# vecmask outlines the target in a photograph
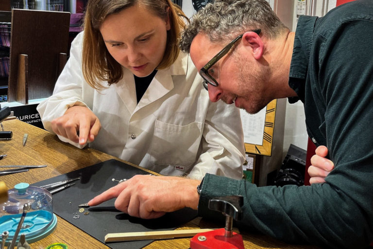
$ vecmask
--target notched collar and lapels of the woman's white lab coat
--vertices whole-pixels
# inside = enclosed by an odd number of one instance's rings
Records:
[[[134,74],[128,69],[123,69],[123,78],[114,85],[120,99],[127,107],[128,111],[134,114],[156,100],[165,96],[174,88],[173,75],[186,75],[188,67],[188,55],[180,53],[176,61],[165,70],[158,70],[148,89],[145,91],[140,102],[136,101],[136,86]],[[177,82],[176,82],[177,83]]]

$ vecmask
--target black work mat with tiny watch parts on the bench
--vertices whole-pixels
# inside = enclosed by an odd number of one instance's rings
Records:
[[[139,249],[154,240],[105,243],[105,235],[115,232],[173,230],[196,217],[197,211],[185,208],[167,213],[157,219],[145,220],[131,217],[115,209],[115,199],[108,200],[96,207],[85,208],[83,213],[79,212],[78,205],[88,202],[103,191],[115,186],[118,182],[113,182],[112,178],[128,179],[135,175],[147,174],[149,173],[121,161],[107,160],[32,185],[42,186],[81,177],[80,180],[75,181],[75,185],[53,194],[53,212],[112,249]],[[85,212],[89,213],[85,214]],[[75,214],[80,215],[80,218],[74,219]]]

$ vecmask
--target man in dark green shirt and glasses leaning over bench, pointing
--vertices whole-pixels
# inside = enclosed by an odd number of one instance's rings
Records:
[[[324,184],[281,188],[209,174],[201,183],[136,176],[89,204],[118,197],[116,207],[138,217],[197,206],[199,215],[211,216],[209,199],[242,195],[241,225],[292,243],[365,248],[373,240],[372,35],[371,0],[347,3],[323,18],[300,17],[295,33],[265,0],[206,5],[187,25],[181,47],[201,69],[210,100],[250,113],[272,99],[301,100],[308,134],[327,146],[334,170]]]

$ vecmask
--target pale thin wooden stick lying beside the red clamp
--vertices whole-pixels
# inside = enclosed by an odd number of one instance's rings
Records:
[[[213,230],[215,229],[185,229],[185,230],[171,230],[171,231],[142,231],[142,232],[140,231],[140,232],[108,233],[105,236],[105,242],[193,237],[197,233],[213,231]]]

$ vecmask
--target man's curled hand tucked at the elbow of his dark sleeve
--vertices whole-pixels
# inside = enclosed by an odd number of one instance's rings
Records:
[[[316,155],[311,158],[311,166],[308,167],[310,184],[325,182],[324,178],[334,169],[334,163],[325,158],[328,155],[328,148],[319,146],[315,152]]]

